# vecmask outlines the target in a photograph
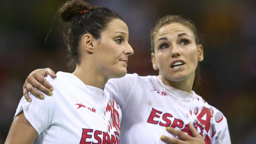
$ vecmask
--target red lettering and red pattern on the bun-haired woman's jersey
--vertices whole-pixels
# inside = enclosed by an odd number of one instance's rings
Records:
[[[105,131],[83,128],[80,144],[119,144],[120,115],[117,109],[120,106],[110,98],[103,114]]]

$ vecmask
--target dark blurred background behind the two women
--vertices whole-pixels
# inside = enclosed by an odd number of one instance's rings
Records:
[[[0,143],[6,139],[31,71],[69,71],[66,47],[54,27],[65,0],[0,0]],[[88,0],[119,13],[129,26],[134,55],[128,72],[157,75],[150,52],[150,29],[166,14],[193,20],[204,35],[200,95],[227,117],[232,144],[256,144],[255,0]]]

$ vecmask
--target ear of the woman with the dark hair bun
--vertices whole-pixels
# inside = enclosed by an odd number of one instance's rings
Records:
[[[96,42],[96,40],[89,33],[84,34],[82,37],[83,48],[84,48],[84,50],[86,50],[89,53],[94,52],[94,48],[95,48],[95,44],[96,44],[95,42]]]

